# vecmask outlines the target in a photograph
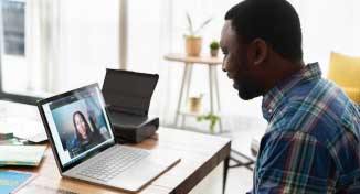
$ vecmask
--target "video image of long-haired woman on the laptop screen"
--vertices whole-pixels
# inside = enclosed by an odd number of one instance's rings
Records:
[[[74,101],[68,104],[68,100]],[[57,128],[62,149],[68,153],[71,159],[110,138],[97,98],[88,94],[86,98],[77,99],[72,96],[65,101],[66,105],[53,104],[50,109]]]

